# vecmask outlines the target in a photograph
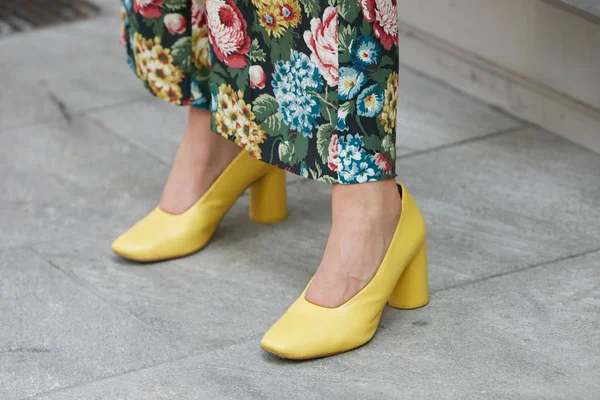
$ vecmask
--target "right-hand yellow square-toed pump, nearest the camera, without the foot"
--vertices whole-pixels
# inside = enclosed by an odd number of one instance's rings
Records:
[[[262,338],[265,351],[298,360],[342,353],[371,340],[386,302],[402,309],[428,303],[425,221],[408,191],[400,184],[398,189],[400,220],[371,282],[336,308],[308,302],[304,289]]]

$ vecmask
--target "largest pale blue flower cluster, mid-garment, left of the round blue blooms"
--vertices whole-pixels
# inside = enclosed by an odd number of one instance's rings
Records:
[[[306,54],[294,50],[289,61],[275,63],[272,85],[283,122],[292,130],[312,138],[321,112],[316,93],[323,88],[317,66]]]

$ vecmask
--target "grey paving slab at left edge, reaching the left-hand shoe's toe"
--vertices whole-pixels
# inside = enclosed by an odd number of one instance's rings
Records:
[[[151,210],[168,166],[85,118],[0,132],[0,247],[85,237]]]

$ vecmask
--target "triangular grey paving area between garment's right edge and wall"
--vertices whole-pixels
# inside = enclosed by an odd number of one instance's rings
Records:
[[[523,124],[410,69],[400,68],[398,155],[471,140]]]

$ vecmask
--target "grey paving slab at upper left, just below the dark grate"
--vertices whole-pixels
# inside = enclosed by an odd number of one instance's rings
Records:
[[[0,40],[0,131],[144,96],[119,24],[109,15]]]

